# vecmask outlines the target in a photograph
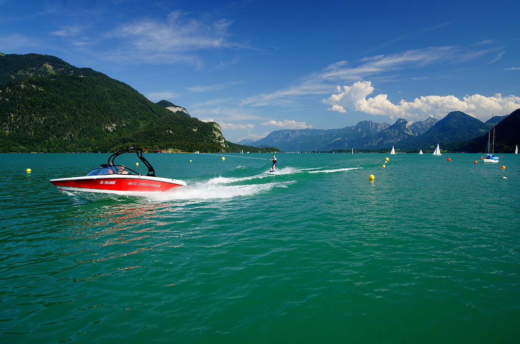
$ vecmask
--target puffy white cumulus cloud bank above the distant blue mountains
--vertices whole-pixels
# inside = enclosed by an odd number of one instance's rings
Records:
[[[373,115],[386,115],[392,119],[422,120],[433,115],[443,118],[450,111],[463,111],[480,120],[488,120],[490,113],[509,114],[520,108],[520,97],[496,94],[486,97],[479,94],[465,96],[421,96],[413,101],[401,99],[393,104],[386,94],[368,97],[374,92],[370,81],[358,81],[351,86],[337,86],[336,93],[323,99],[322,103],[329,105],[328,110],[347,112],[346,109],[362,111]]]

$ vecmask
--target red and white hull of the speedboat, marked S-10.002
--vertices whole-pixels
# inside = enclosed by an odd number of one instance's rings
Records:
[[[140,195],[161,193],[177,186],[185,186],[183,181],[142,175],[94,175],[72,178],[51,179],[50,183],[71,193],[100,193],[112,195]]]

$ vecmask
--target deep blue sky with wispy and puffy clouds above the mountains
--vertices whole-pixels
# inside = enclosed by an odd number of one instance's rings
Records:
[[[0,52],[57,56],[222,126],[393,124],[520,108],[511,1],[0,0]]]

